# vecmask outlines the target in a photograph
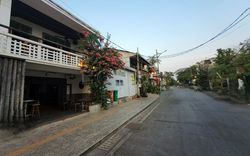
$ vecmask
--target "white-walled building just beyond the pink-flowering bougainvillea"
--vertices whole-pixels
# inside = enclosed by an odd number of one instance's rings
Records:
[[[140,96],[142,77],[149,77],[149,62],[134,52],[119,50],[119,53],[122,54],[125,67],[122,70],[115,71],[113,78],[108,80],[108,90],[115,91],[114,94],[118,93],[119,100]]]

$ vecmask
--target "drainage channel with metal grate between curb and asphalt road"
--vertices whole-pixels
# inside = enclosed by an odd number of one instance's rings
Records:
[[[147,107],[140,114],[135,116],[125,125],[120,127],[116,132],[110,135],[106,140],[104,140],[100,145],[94,148],[92,151],[89,151],[86,156],[104,156],[104,155],[113,155],[114,152],[124,143],[129,137],[143,129],[143,121],[148,118],[148,116],[154,111],[155,108],[160,104],[159,99],[156,100],[153,104]]]

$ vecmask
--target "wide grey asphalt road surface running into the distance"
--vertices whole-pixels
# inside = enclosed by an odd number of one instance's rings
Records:
[[[250,106],[173,88],[114,155],[249,156]]]

